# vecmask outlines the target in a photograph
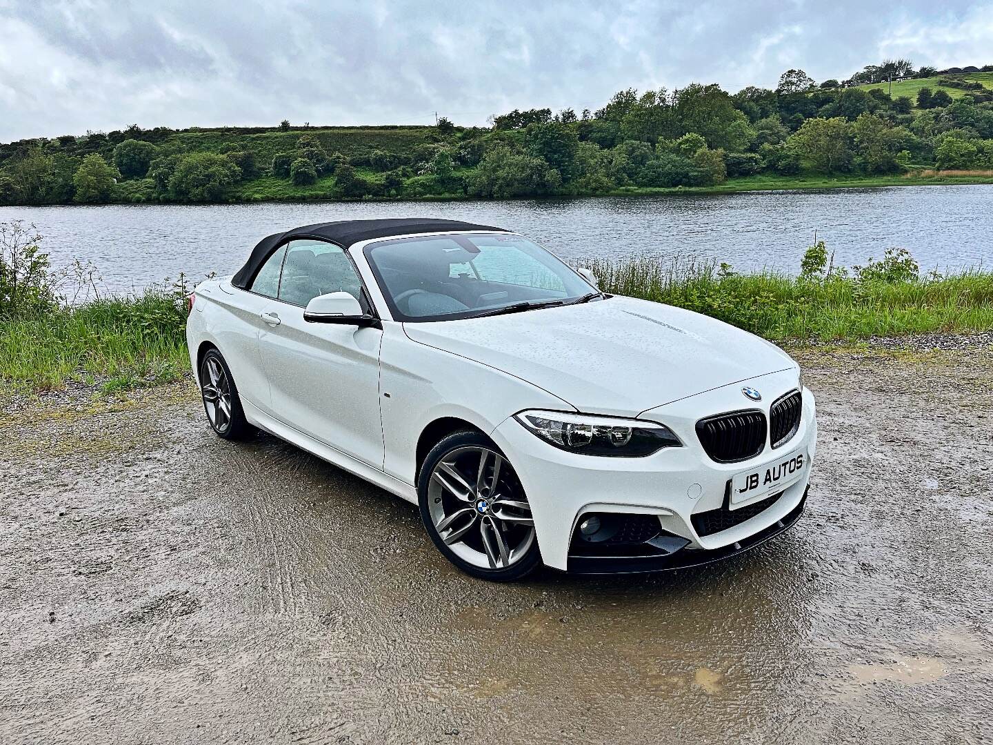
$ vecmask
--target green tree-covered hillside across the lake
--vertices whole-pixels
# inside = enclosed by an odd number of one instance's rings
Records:
[[[939,77],[941,87],[922,87],[913,100],[851,86],[931,73],[896,61],[869,66],[847,85],[818,85],[790,70],[776,89],[734,94],[700,83],[628,88],[596,111],[515,109],[489,127],[443,117],[397,151],[366,147],[360,135],[333,149],[324,130],[307,125],[296,134],[285,120],[269,131],[295,140],[264,159],[249,137],[199,149],[172,130],[137,126],[28,140],[0,146],[0,204],[221,202],[235,193],[264,197],[283,182],[292,189],[281,193],[318,198],[596,195],[759,174],[993,168],[993,91],[981,83]],[[946,87],[962,94],[953,99]]]

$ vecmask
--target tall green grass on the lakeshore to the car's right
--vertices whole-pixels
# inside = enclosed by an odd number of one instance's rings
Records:
[[[772,340],[856,340],[993,329],[993,273],[902,281],[763,272],[713,262],[597,260],[601,288],[704,313]]]

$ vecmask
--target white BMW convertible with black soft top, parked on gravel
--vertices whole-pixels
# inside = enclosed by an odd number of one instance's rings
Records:
[[[196,287],[187,340],[219,437],[264,430],[416,504],[476,577],[704,564],[806,503],[815,403],[785,353],[499,227],[269,235]]]

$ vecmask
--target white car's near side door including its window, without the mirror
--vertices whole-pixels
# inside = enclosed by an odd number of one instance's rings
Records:
[[[279,292],[261,318],[259,353],[274,416],[327,445],[382,468],[379,346],[382,332],[304,321],[318,295],[349,292],[369,312],[348,253],[322,240],[292,240]]]

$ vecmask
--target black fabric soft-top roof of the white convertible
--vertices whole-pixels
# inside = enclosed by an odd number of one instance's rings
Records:
[[[294,227],[286,232],[277,232],[262,238],[252,248],[245,265],[231,277],[231,284],[245,289],[256,272],[280,245],[292,238],[323,238],[337,243],[343,248],[372,238],[386,238],[391,235],[409,235],[419,232],[455,232],[459,230],[495,230],[506,232],[502,227],[462,223],[457,220],[437,220],[434,218],[390,218],[387,220],[343,220],[337,223],[318,223]]]

